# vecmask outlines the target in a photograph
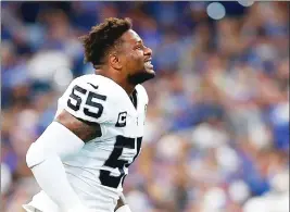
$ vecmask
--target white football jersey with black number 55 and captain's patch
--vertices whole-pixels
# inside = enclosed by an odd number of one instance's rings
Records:
[[[112,79],[91,74],[75,78],[58,101],[55,116],[66,110],[88,124],[101,126],[100,137],[62,160],[67,179],[83,203],[100,212],[114,211],[128,166],[141,150],[148,96],[137,85],[133,97],[134,101]],[[37,207],[50,202],[50,211],[54,212],[52,207],[58,211],[43,191],[33,202],[30,205]]]

